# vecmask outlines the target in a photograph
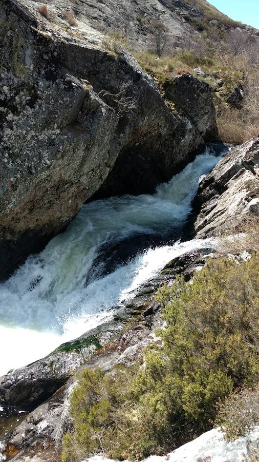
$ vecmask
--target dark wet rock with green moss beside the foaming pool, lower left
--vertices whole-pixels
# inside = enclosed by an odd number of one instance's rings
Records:
[[[0,403],[30,410],[56,392],[95,351],[103,347],[126,322],[101,324],[79,338],[63,343],[43,359],[0,378]]]

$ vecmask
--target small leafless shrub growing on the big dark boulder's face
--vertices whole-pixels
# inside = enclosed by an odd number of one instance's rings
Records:
[[[134,97],[126,96],[127,88],[130,82],[122,83],[119,86],[118,93],[111,93],[110,91],[101,90],[98,96],[101,97],[109,106],[116,107],[117,115],[120,117],[125,114],[133,114],[134,109],[137,108],[137,100]]]

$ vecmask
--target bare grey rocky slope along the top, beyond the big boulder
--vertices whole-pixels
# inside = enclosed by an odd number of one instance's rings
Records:
[[[35,10],[40,2],[24,0],[23,4]],[[189,27],[198,33],[207,31],[215,37],[226,37],[230,28],[241,27],[252,35],[259,34],[252,27],[231,20],[206,0],[130,0],[113,2],[77,2],[76,0],[48,0],[52,22],[67,27],[64,10],[69,10],[77,21],[77,34],[95,42],[101,34],[117,31],[128,38],[130,47],[136,50],[152,46],[152,23],[162,21],[169,29],[168,47],[188,33]]]

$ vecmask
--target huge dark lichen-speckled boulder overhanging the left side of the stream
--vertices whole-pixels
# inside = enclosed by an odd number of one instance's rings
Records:
[[[150,192],[215,135],[206,84],[187,82],[197,89],[191,104],[202,97],[209,107],[203,124],[196,113],[191,120],[191,108],[172,114],[131,55],[105,52],[101,33],[88,39],[37,6],[0,5],[1,277],[61,232],[114,165],[102,195]],[[177,83],[184,93],[185,80]],[[121,110],[113,96],[122,84],[133,110]]]

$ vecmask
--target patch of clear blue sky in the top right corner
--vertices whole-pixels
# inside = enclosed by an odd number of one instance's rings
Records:
[[[259,0],[208,0],[222,13],[259,29]]]

